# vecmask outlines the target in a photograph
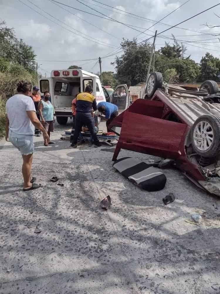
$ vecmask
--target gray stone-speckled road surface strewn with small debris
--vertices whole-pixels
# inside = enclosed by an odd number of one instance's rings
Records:
[[[35,191],[22,192],[21,156],[1,141],[0,293],[220,293],[219,198],[173,169],[162,191],[142,191],[114,171],[113,153],[72,149],[63,129],[56,125],[53,146],[35,138]],[[176,200],[164,206],[170,192]],[[106,195],[112,206],[103,211]],[[193,213],[201,223],[187,222]]]

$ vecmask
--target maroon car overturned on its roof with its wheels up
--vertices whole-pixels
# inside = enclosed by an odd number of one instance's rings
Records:
[[[218,84],[206,81],[200,91],[189,91],[162,83],[159,74],[150,75],[145,99],[111,122],[111,130],[120,134],[113,161],[121,148],[169,158],[197,186],[220,196]]]

